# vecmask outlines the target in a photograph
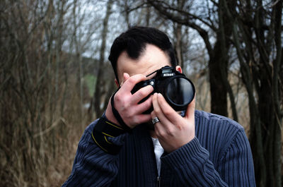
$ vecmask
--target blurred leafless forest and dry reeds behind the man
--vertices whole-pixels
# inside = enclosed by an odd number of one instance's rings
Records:
[[[282,1],[2,0],[0,19],[0,186],[64,183],[131,25],[170,36],[197,109],[241,123],[257,186],[282,186]]]

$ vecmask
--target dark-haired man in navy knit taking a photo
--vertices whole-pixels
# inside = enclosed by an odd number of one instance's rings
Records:
[[[130,28],[116,38],[109,59],[120,89],[83,133],[63,186],[255,186],[250,145],[238,123],[195,110],[195,99],[183,114],[160,93],[141,102],[151,85],[132,94],[163,66],[182,73],[163,32]]]

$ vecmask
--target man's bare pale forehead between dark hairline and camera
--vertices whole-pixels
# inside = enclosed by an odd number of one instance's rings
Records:
[[[122,52],[117,59],[117,73],[122,83],[123,73],[149,75],[163,66],[171,66],[168,54],[152,44],[146,44],[144,52],[138,59],[131,59],[127,52]]]

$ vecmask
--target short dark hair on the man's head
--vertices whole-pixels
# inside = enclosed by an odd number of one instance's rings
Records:
[[[146,44],[154,44],[163,52],[166,52],[170,58],[171,66],[175,68],[176,61],[174,49],[168,36],[156,28],[134,26],[117,37],[110,49],[108,59],[112,64],[118,83],[117,59],[120,54],[122,52],[127,52],[131,59],[138,59],[141,53],[144,52]]]

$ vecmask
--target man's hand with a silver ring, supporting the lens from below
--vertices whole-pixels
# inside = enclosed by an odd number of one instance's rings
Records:
[[[184,117],[160,93],[154,93],[152,104],[154,111],[151,112],[151,118],[157,116],[160,121],[155,123],[154,131],[166,152],[173,152],[195,138],[195,98],[187,106]]]

